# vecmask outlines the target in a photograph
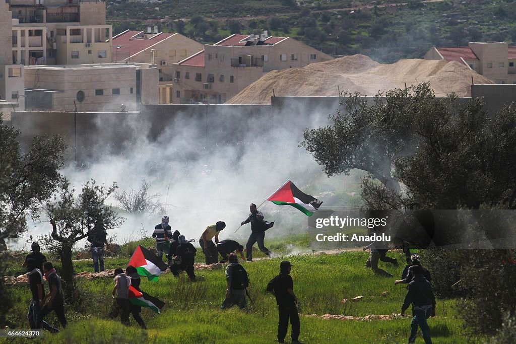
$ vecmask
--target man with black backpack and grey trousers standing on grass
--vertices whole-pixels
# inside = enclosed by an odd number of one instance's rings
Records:
[[[246,269],[238,264],[238,257],[233,252],[229,255],[229,265],[226,267],[226,296],[220,308],[231,308],[238,305],[240,309],[247,306],[246,288],[249,286],[249,277]]]

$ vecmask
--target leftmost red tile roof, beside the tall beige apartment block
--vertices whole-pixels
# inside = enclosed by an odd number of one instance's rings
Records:
[[[142,50],[147,49],[148,47],[159,43],[170,36],[175,34],[164,34],[163,32],[157,35],[154,35],[150,39],[143,38],[134,38],[136,35],[140,34],[143,31],[132,31],[126,30],[121,34],[113,37],[113,47],[112,47],[112,56],[114,59],[118,56],[122,56],[119,59],[127,59],[129,56],[135,55]],[[120,52],[117,54],[117,52]]]

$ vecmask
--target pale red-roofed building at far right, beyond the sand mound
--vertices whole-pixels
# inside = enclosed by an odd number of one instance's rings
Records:
[[[468,46],[432,47],[424,58],[460,61],[497,84],[516,84],[516,45],[470,42]]]

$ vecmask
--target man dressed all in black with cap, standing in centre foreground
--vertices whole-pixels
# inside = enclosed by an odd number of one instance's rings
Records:
[[[276,297],[278,303],[278,342],[284,343],[287,335],[288,319],[292,325],[292,343],[299,344],[299,314],[297,311],[297,297],[294,294],[294,282],[290,276],[292,265],[289,261],[280,263],[280,274],[267,284],[267,291]]]

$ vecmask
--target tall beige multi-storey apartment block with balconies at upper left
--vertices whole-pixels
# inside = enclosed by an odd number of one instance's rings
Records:
[[[8,0],[12,63],[111,62],[112,27],[96,0]]]

